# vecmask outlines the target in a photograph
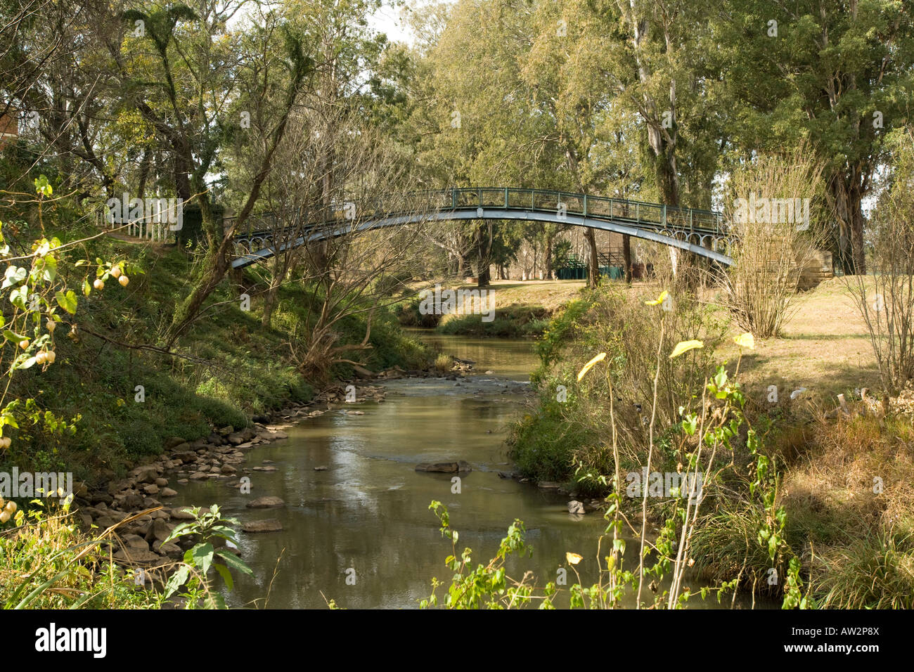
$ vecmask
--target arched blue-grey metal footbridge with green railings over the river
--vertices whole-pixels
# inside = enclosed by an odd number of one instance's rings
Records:
[[[283,229],[274,215],[249,219],[235,236],[232,268],[263,261],[277,251],[364,231],[428,221],[515,219],[571,224],[652,240],[730,265],[736,243],[719,212],[676,208],[623,198],[514,187],[470,187],[416,192],[370,203],[346,203],[315,221]],[[307,218],[306,218],[307,219]]]

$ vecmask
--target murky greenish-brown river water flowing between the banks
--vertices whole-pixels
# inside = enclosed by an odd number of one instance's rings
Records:
[[[515,518],[526,525],[532,557],[508,563],[508,576],[533,571],[537,584],[556,581],[568,566],[567,551],[584,556],[577,566],[590,585],[597,578],[599,513],[572,517],[568,496],[501,478],[512,470],[505,453],[506,425],[526,404],[527,376],[536,366],[527,340],[421,336],[442,351],[476,362],[473,374],[448,379],[400,379],[385,383],[381,403],[345,404],[287,430],[289,439],[248,453],[251,468],[264,460],[274,472],[251,472],[251,493],[219,481],[191,481],[177,505],[218,503],[240,522],[278,518],[282,531],[239,532],[239,547],[253,577],[236,575],[226,592],[230,606],[415,608],[437,577],[450,583],[444,559],[451,542],[441,538],[431,500],[445,504],[460,533],[458,555],[473,549],[473,565],[494,556]],[[492,374],[485,374],[492,370]],[[342,411],[363,411],[351,415]],[[417,473],[420,462],[465,460],[461,475]],[[269,463],[268,463],[269,464]],[[314,467],[325,466],[324,471]],[[250,509],[258,496],[279,496],[286,506]],[[611,542],[610,542],[611,544]],[[636,546],[627,555],[636,557]],[[603,541],[603,555],[607,541]],[[569,584],[577,578],[569,572]],[[443,596],[446,587],[439,588]]]

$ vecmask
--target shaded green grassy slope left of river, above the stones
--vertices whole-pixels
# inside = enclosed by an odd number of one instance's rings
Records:
[[[80,240],[96,233],[74,222],[68,236]],[[80,296],[73,324],[58,327],[56,364],[16,374],[16,395],[37,400],[36,422],[12,432],[0,468],[72,471],[77,480],[94,482],[121,474],[143,455],[160,453],[171,437],[193,440],[213,428],[239,429],[252,415],[310,400],[328,382],[305,378],[290,357],[290,346],[301,338],[314,309],[314,294],[300,284],[282,287],[271,326],[264,327],[256,291],[249,290],[250,310],[242,310],[239,300],[239,285],[258,286],[257,268],[236,278],[238,284],[227,278],[174,354],[165,354],[159,335],[195,270],[186,253],[106,236],[87,241],[74,256],[127,261],[133,269],[130,283],[122,287],[111,279],[103,290]],[[77,290],[81,271],[69,271],[68,284]],[[339,343],[362,340],[364,315],[336,325]],[[374,315],[370,345],[359,353],[367,368],[427,363],[425,348],[405,336],[383,309]],[[347,378],[352,367],[340,364],[331,373]],[[45,410],[73,419],[74,429],[60,432],[43,422]]]

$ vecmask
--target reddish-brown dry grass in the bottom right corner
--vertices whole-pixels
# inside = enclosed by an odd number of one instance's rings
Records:
[[[820,419],[781,503],[824,608],[910,608],[914,599],[914,426],[874,415]]]

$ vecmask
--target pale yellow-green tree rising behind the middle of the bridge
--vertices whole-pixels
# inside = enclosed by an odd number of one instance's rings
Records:
[[[429,37],[412,119],[418,162],[439,185],[572,187],[554,116],[537,100],[539,82],[524,72],[537,11],[516,0],[466,1],[452,6],[446,22],[440,11],[427,16],[432,27],[420,31]],[[519,240],[524,232],[515,229],[525,226],[500,223],[490,235],[488,225],[473,225],[481,283],[489,262],[508,261],[492,256],[504,248],[492,236]],[[551,240],[559,227],[550,229]]]

